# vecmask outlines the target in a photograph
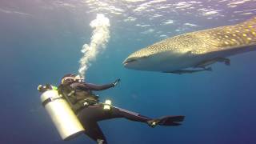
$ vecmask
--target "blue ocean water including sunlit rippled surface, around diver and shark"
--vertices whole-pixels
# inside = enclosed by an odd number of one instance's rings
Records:
[[[182,126],[154,129],[139,122],[100,122],[109,143],[254,144],[256,52],[214,64],[213,72],[162,74],[127,70],[135,50],[194,30],[256,16],[256,1],[9,1],[0,2],[0,143],[94,143],[82,135],[62,142],[41,105],[39,84],[58,85],[77,73],[82,45],[90,43],[96,14],[110,19],[110,41],[86,71],[86,81],[114,82],[101,100],[157,118],[185,115]]]

